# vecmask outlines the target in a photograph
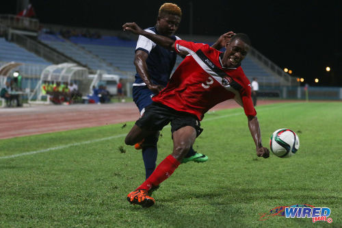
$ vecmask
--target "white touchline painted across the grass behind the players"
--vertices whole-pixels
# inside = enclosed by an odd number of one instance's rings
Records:
[[[287,103],[287,104],[276,106],[276,107],[265,107],[265,108],[259,109],[258,112],[265,111],[265,110],[272,110],[274,108],[280,108],[280,107],[284,107],[284,106],[288,106],[288,105],[294,105],[294,104],[299,104],[299,103]],[[218,118],[226,118],[226,117],[230,117],[230,116],[239,116],[239,115],[242,115],[242,114],[244,114],[244,112],[239,112],[239,113],[234,113],[234,114],[227,114],[227,115],[224,115],[224,116],[215,116],[215,117],[211,117],[211,118],[209,117],[209,118],[205,118],[203,121],[213,121],[213,120],[216,120]],[[166,127],[170,127],[170,125],[168,125]],[[164,127],[164,128],[166,128],[166,127]],[[45,153],[45,152],[49,152],[49,151],[65,149],[65,148],[68,148],[68,147],[76,147],[76,146],[83,145],[83,144],[90,144],[90,143],[93,143],[93,142],[101,142],[101,141],[105,141],[105,140],[111,140],[113,138],[121,138],[121,137],[124,137],[124,136],[127,136],[127,134],[120,134],[120,135],[117,135],[117,136],[110,136],[110,137],[106,137],[106,138],[98,138],[98,139],[88,140],[88,141],[83,141],[83,142],[75,142],[75,143],[70,143],[70,144],[66,144],[66,145],[63,145],[63,146],[59,146],[59,147],[50,147],[50,148],[47,148],[47,149],[41,149],[41,150],[38,150],[38,151],[29,151],[29,152],[25,152],[25,153],[17,153],[17,154],[14,154],[14,155],[8,155],[8,156],[0,157],[0,160],[1,159],[13,158],[13,157],[21,157],[21,156],[25,156],[25,155],[33,155],[33,154],[36,154],[36,153]]]

